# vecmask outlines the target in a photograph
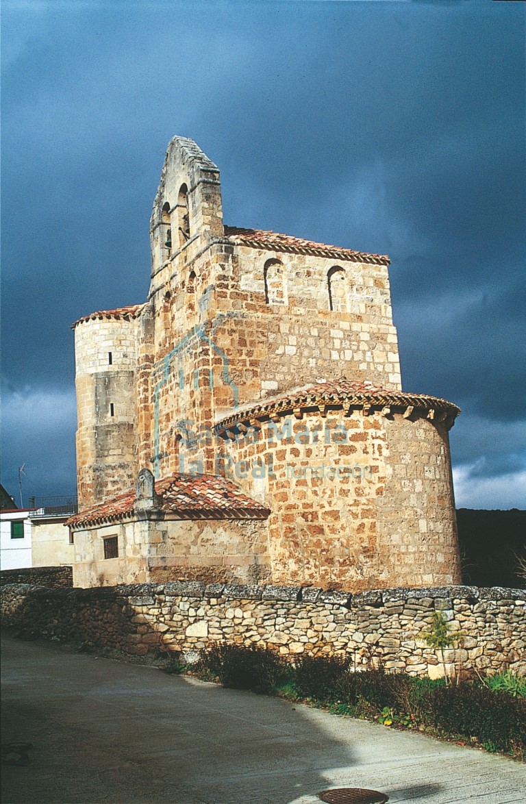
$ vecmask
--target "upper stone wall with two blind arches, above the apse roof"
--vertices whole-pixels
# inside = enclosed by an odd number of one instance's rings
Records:
[[[281,268],[281,301],[265,293],[269,261]],[[335,268],[346,277],[347,306],[331,310],[327,276]],[[240,388],[253,386],[246,401],[341,375],[401,388],[386,265],[335,265],[329,258],[236,246],[224,273],[218,266],[216,297],[218,310],[245,312],[235,326],[218,330],[217,343],[228,351]],[[262,349],[255,355],[259,388],[246,363],[251,342],[256,352]]]

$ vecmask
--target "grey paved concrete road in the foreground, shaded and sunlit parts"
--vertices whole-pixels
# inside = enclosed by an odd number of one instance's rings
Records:
[[[310,804],[328,787],[390,802],[526,801],[526,769],[379,724],[339,718],[55,644],[2,641],[4,804]]]

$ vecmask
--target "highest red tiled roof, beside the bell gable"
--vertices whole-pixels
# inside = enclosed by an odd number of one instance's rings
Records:
[[[314,256],[330,257],[334,260],[351,260],[351,262],[371,262],[378,265],[389,265],[389,258],[385,255],[356,252],[351,248],[340,248],[339,246],[330,246],[324,243],[314,243],[313,240],[303,240],[302,237],[281,235],[279,232],[265,232],[261,229],[240,229],[235,226],[225,226],[224,235],[236,245],[262,248],[265,251],[312,254]]]

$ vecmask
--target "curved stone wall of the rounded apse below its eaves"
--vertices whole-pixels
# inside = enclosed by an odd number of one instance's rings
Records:
[[[461,580],[444,425],[310,412],[223,444],[224,473],[272,511],[273,583],[361,592]]]

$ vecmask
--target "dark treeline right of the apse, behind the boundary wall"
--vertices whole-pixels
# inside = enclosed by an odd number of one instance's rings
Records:
[[[526,511],[458,508],[457,522],[464,583],[526,587]]]

